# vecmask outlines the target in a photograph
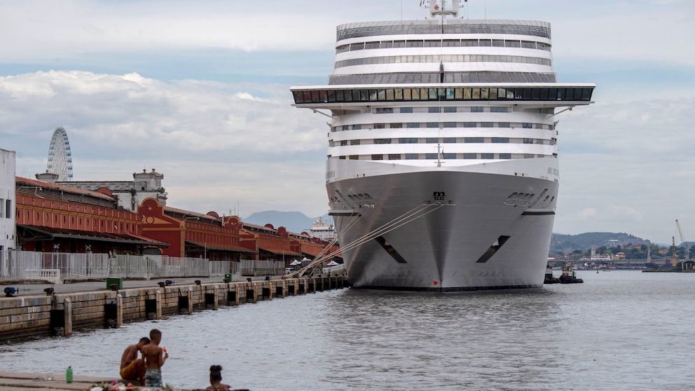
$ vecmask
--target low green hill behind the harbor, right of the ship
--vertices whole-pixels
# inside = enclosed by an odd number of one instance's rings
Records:
[[[621,247],[626,245],[651,245],[652,242],[629,233],[613,233],[613,232],[587,232],[579,235],[563,235],[561,233],[553,233],[550,240],[550,254],[558,252],[570,253],[575,249],[589,250],[594,245],[597,248],[601,246],[614,247],[615,242]]]

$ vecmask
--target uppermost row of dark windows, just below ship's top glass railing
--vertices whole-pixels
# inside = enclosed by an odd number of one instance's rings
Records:
[[[363,49],[389,48],[460,48],[469,46],[491,46],[497,48],[526,48],[550,50],[549,43],[521,41],[518,39],[408,39],[401,41],[373,41],[349,43],[336,48],[336,53]]]

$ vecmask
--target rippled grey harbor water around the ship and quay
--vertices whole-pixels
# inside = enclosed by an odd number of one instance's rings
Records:
[[[336,289],[0,345],[5,371],[118,376],[163,331],[163,379],[261,390],[688,390],[695,273],[448,294]]]

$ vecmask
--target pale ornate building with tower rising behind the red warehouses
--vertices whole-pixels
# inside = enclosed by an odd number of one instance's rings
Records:
[[[142,170],[142,172],[134,172],[132,181],[58,181],[54,174],[46,172],[44,174],[36,174],[36,179],[47,181],[49,183],[64,184],[83,190],[97,191],[99,188],[108,188],[113,196],[118,199],[118,207],[130,212],[137,211],[138,205],[146,198],[154,198],[160,205],[167,205],[167,192],[162,187],[162,179],[164,174],[156,172],[152,169],[151,172]]]

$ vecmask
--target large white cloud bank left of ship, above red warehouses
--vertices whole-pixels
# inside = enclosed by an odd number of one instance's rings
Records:
[[[20,176],[43,172],[60,125],[75,180],[128,180],[154,167],[179,207],[327,210],[325,121],[291,107],[287,86],[35,72],[0,77],[0,118]]]

